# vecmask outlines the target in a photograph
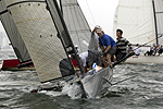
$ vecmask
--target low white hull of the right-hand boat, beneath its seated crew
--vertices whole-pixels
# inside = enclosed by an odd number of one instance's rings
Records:
[[[133,56],[128,58],[124,63],[155,63],[163,64],[163,56]]]

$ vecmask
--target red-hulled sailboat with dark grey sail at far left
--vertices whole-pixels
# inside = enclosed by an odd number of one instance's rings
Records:
[[[21,34],[14,24],[10,11],[4,5],[3,1],[0,1],[0,21],[5,29],[5,33],[11,41],[13,50],[17,59],[7,59],[3,60],[2,70],[18,70],[17,65],[23,63],[28,63],[32,61],[28,50],[21,37]],[[30,64],[33,65],[33,64]],[[35,70],[34,65],[32,68],[25,68],[21,70]]]

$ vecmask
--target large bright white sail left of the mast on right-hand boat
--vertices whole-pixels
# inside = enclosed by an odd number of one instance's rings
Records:
[[[152,0],[120,0],[115,28],[124,31],[124,37],[131,44],[155,44],[155,23]]]

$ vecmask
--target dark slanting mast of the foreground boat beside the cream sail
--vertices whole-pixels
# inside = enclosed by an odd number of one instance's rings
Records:
[[[48,0],[46,0],[46,2],[47,2],[48,8],[50,8],[50,7],[49,7],[50,3],[48,3]],[[79,70],[80,70],[80,72],[82,72],[82,75],[84,75],[84,73],[85,73],[85,72],[84,72],[84,69],[83,69],[83,66],[82,66],[82,64],[80,64],[80,62],[79,62],[79,60],[78,60],[78,58],[77,58],[77,53],[76,53],[75,47],[74,47],[74,45],[73,45],[73,41],[72,41],[72,39],[71,39],[71,36],[70,36],[68,31],[67,31],[67,28],[66,28],[65,22],[64,22],[64,20],[63,20],[63,16],[62,16],[62,13],[61,13],[61,10],[60,10],[60,8],[59,8],[59,5],[58,5],[57,0],[53,0],[53,3],[54,3],[54,7],[55,7],[55,9],[57,9],[58,15],[59,15],[59,17],[60,17],[60,20],[61,20],[61,23],[62,23],[63,29],[64,29],[64,32],[65,32],[66,38],[68,39],[68,40],[66,40],[66,41],[70,41],[70,47],[72,48],[72,51],[73,51],[73,53],[75,55],[75,59],[76,59],[76,61],[77,61],[78,68],[79,68]],[[51,7],[52,7],[52,4],[51,4]],[[55,20],[54,20],[53,15],[52,15],[51,10],[49,9],[48,11],[49,11],[50,14],[51,14],[52,21],[53,21],[53,23],[54,23],[54,25],[55,25],[55,28],[57,28],[57,31],[58,31],[59,36],[62,37],[61,34],[60,34],[59,27],[58,27],[58,25],[55,24]],[[63,34],[64,34],[64,33],[63,33]],[[65,40],[64,40],[64,41],[65,41]],[[63,46],[64,46],[64,45],[63,45]],[[65,47],[65,46],[64,46],[64,47]],[[68,48],[68,47],[65,47],[65,49],[64,49],[66,53],[67,53],[67,50],[66,50],[67,48]],[[78,76],[78,74],[77,74],[77,76]]]

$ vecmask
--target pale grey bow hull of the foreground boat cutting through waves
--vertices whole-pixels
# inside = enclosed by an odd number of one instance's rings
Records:
[[[97,74],[87,75],[82,80],[85,92],[90,98],[102,96],[111,86],[113,71],[110,68],[100,70]]]

